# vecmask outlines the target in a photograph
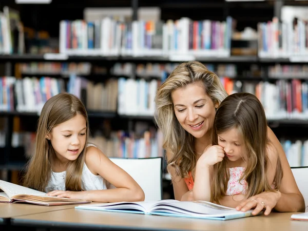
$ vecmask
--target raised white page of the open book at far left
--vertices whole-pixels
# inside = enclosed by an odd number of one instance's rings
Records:
[[[45,196],[45,192],[37,191],[31,188],[27,188],[21,185],[13,184],[0,180],[0,188],[6,193],[9,198],[13,198],[16,195],[36,195],[36,196]]]

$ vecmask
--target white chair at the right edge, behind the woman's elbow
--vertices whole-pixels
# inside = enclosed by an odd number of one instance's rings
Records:
[[[304,197],[306,211],[308,211],[308,166],[307,167],[291,167],[293,176],[297,186]]]

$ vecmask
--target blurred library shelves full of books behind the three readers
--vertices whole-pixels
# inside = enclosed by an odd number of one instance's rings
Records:
[[[6,21],[3,15],[0,24]],[[133,121],[133,129],[115,129],[108,137],[92,133],[90,141],[100,144],[107,156],[164,156],[162,134],[152,129],[156,90],[179,63],[198,60],[217,73],[229,94],[256,94],[271,127],[308,126],[308,65],[303,63],[308,61],[308,45],[303,21],[294,27],[275,17],[259,23],[258,55],[249,56],[231,55],[232,24],[232,17],[225,21],[63,20],[59,52],[44,54],[14,53],[9,29],[4,27],[0,62],[17,64],[19,69],[16,77],[0,77],[0,119],[37,119],[50,97],[67,91],[83,100],[90,124],[105,119]],[[0,160],[0,169],[20,169],[33,152],[35,133],[14,130],[7,135],[7,128],[1,129],[0,150],[5,151],[7,144],[11,148],[9,157]],[[305,139],[300,134],[281,138],[291,166],[308,166]]]

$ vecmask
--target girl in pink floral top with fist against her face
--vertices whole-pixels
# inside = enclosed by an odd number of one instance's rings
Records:
[[[224,99],[216,111],[212,138],[213,145],[197,162],[195,199],[220,203],[227,195],[235,202],[250,198],[255,206],[266,207],[254,196],[278,190],[283,174],[258,98],[234,93]]]

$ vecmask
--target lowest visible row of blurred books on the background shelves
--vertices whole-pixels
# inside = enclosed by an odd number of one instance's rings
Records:
[[[5,147],[5,132],[0,132],[0,147]],[[12,147],[24,147],[25,157],[29,158],[34,151],[35,132],[13,132]],[[161,130],[145,130],[142,132],[111,131],[110,137],[104,137],[100,132],[89,138],[108,157],[148,158],[164,157],[162,148],[163,136]],[[291,167],[308,166],[308,140],[280,140],[286,158]]]

